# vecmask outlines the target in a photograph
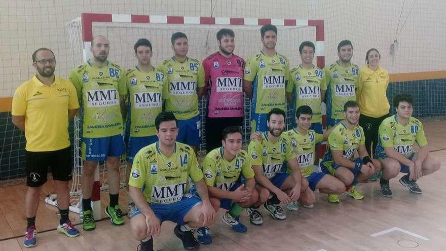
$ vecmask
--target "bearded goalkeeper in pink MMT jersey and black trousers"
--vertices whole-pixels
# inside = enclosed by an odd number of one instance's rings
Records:
[[[234,55],[234,31],[217,32],[220,50],[203,60],[198,70],[200,86],[207,87],[206,152],[220,146],[219,133],[227,126],[241,126],[243,122],[243,69],[245,60]],[[203,84],[204,83],[204,84]]]

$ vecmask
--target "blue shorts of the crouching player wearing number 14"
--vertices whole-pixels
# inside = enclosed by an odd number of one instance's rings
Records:
[[[180,201],[170,204],[148,203],[155,216],[160,222],[171,221],[179,225],[184,225],[184,217],[194,207],[201,204],[200,198],[193,196],[191,198],[183,196]],[[140,214],[139,208],[136,208],[130,219]]]

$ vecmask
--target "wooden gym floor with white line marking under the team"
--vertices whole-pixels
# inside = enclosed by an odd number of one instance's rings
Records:
[[[430,145],[430,154],[446,162],[446,121],[425,120],[424,127]],[[220,221],[222,210],[210,228],[211,245],[201,250],[444,250],[446,249],[446,195],[442,190],[446,180],[445,164],[433,175],[423,177],[419,186],[422,195],[411,194],[401,186],[398,178],[391,180],[393,198],[380,195],[379,182],[358,186],[365,198],[354,200],[341,195],[341,203],[331,204],[326,195],[316,194],[314,208],[300,208],[297,212],[285,209],[287,219],[271,219],[262,209],[263,226],[249,224],[246,213],[241,221],[248,232],[239,234]],[[400,177],[400,174],[398,177]],[[136,250],[138,241],[130,232],[129,219],[116,227],[106,219],[98,222],[96,230],[68,238],[57,232],[58,210],[44,202],[52,193],[52,182],[43,187],[36,219],[39,231],[38,245],[31,250]],[[24,184],[0,188],[0,250],[28,250],[23,246],[26,227],[24,213]],[[121,190],[120,204],[127,210],[127,195]],[[103,205],[108,195],[102,193]],[[102,217],[105,217],[102,212]],[[70,213],[75,224],[80,224],[76,213]],[[164,222],[162,234],[155,239],[155,250],[182,250],[179,239],[173,235],[174,224]],[[386,231],[387,230],[387,231]]]

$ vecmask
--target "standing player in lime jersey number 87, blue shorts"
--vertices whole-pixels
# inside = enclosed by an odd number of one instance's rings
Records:
[[[152,44],[150,41],[139,39],[134,45],[134,50],[138,63],[126,73],[129,101],[126,132],[128,135],[127,184],[135,154],[141,148],[158,140],[155,118],[163,111],[163,99],[167,98],[163,95],[167,78],[151,64]],[[133,202],[129,201],[129,211],[133,210],[133,206]]]

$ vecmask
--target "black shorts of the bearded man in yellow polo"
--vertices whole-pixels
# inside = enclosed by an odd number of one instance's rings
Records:
[[[48,167],[53,180],[71,181],[72,159],[70,147],[50,152],[28,152],[26,159],[26,186],[40,187],[47,182]]]

